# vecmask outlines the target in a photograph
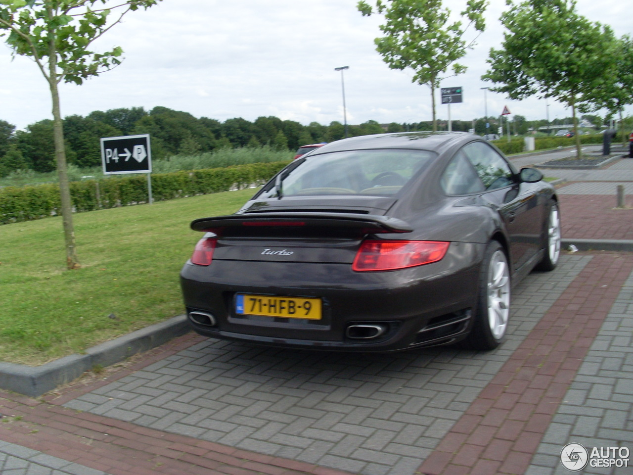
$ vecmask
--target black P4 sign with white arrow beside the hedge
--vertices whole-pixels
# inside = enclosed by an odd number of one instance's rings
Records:
[[[149,135],[101,139],[101,163],[104,175],[151,173]]]

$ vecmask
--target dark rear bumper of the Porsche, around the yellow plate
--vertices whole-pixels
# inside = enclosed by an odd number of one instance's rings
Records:
[[[395,351],[441,345],[470,330],[477,298],[480,244],[452,243],[437,263],[392,272],[354,272],[351,264],[213,260],[185,264],[187,314],[205,312],[213,325],[189,319],[212,338],[311,350]],[[235,294],[320,298],[320,320],[236,315]],[[349,338],[350,325],[380,325],[377,338]]]

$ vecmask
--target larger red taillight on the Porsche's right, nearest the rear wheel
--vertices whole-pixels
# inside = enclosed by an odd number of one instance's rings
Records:
[[[363,241],[353,270],[396,270],[441,260],[450,243],[440,241]]]

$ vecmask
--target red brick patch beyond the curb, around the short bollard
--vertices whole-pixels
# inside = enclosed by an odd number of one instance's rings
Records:
[[[613,195],[560,194],[562,234],[565,239],[633,239],[633,197],[627,196],[629,208],[615,209]],[[605,229],[609,235],[605,236]]]

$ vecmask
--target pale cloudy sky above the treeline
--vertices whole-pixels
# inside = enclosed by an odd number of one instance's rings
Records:
[[[375,51],[379,15],[363,17],[357,0],[163,0],[147,11],[129,13],[94,45],[94,51],[122,46],[122,65],[84,85],[61,86],[63,116],[94,110],[165,106],[195,117],[223,121],[275,116],[301,124],[342,122],[343,73],[349,124],[431,120],[430,89],[411,83],[410,70],[390,70]],[[465,0],[444,2],[459,11]],[[482,87],[491,47],[499,47],[505,0],[490,0],[487,28],[460,63],[467,73],[442,81],[463,87],[463,103],[451,106],[453,120],[499,115],[504,106],[528,120],[546,118],[544,99],[511,101]],[[622,36],[633,31],[630,0],[577,0],[577,11],[611,26]],[[467,39],[472,39],[468,37]],[[439,103],[439,92],[438,103]],[[485,100],[484,100],[485,96]],[[447,106],[438,117],[448,118]],[[627,114],[633,113],[631,108]],[[549,118],[571,115],[549,101]],[[23,129],[51,118],[51,99],[39,69],[11,58],[0,44],[0,120]]]

